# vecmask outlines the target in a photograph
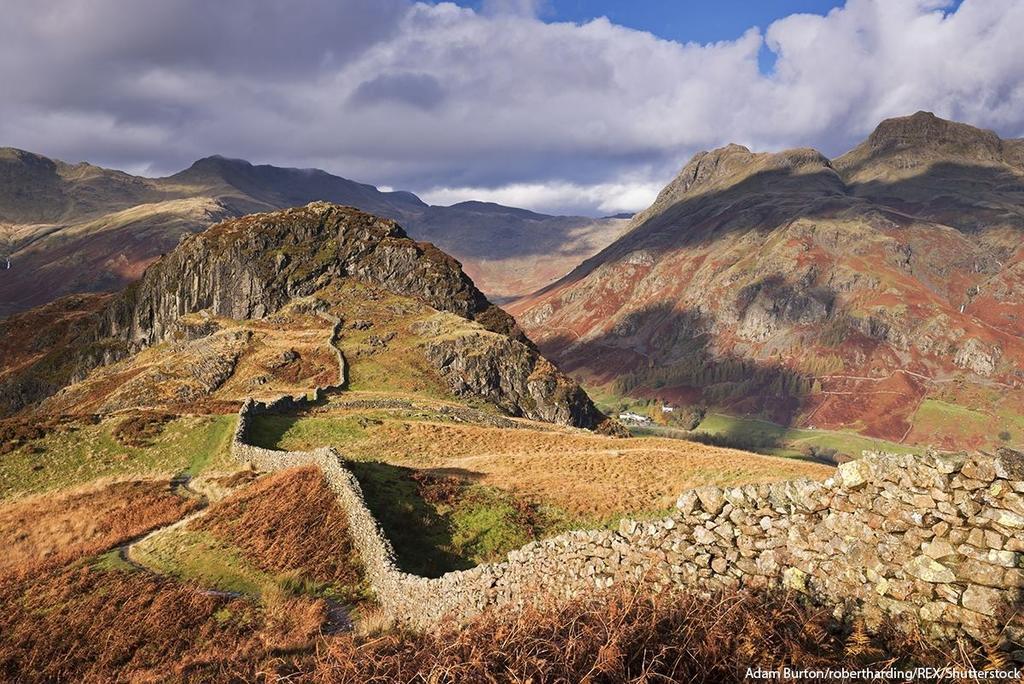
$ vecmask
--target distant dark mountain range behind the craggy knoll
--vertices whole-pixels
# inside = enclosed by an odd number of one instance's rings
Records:
[[[384,193],[315,169],[223,157],[166,178],[142,178],[2,148],[0,316],[66,294],[119,290],[186,233],[321,200],[400,221],[417,239],[461,259],[499,300],[564,274],[627,223],[477,202],[433,207],[412,193]]]

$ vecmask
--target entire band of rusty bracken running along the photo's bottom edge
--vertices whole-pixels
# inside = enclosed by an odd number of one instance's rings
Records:
[[[787,594],[711,597],[621,589],[485,613],[435,634],[317,634],[322,602],[267,608],[162,578],[70,566],[0,585],[0,679],[135,682],[708,682],[748,668],[914,664],[982,669],[939,649],[837,624]]]

